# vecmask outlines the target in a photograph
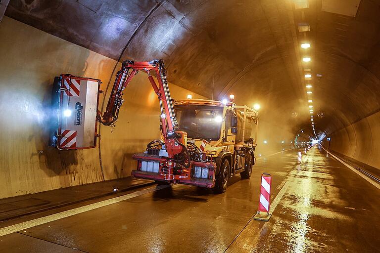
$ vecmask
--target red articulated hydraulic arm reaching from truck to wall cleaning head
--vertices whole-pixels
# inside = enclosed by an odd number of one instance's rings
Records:
[[[158,86],[150,75],[150,71],[154,70],[158,80]],[[115,83],[113,84],[112,93],[108,99],[107,108],[103,115],[98,112],[97,121],[103,125],[110,126],[115,123],[119,116],[119,109],[123,104],[123,90],[132,81],[133,77],[139,71],[145,71],[152,85],[154,92],[157,94],[161,108],[161,124],[162,135],[167,139],[176,137],[176,129],[178,123],[174,114],[172,99],[170,97],[168,83],[166,81],[166,70],[163,60],[152,60],[150,62],[133,62],[124,61],[121,70],[116,74]]]

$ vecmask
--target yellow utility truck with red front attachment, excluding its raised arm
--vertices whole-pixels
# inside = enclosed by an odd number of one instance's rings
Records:
[[[186,147],[183,160],[191,161],[190,166],[174,170],[175,175],[168,178],[167,152],[161,138],[150,142],[144,153],[134,155],[138,165],[132,175],[158,183],[214,188],[217,193],[225,192],[229,178],[238,173],[241,178],[250,177],[255,164],[257,111],[231,101],[204,99],[177,100],[173,107],[177,130],[183,133],[181,143]]]

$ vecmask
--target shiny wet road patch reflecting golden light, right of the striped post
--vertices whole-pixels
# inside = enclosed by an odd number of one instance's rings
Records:
[[[326,247],[336,243],[333,235],[323,232],[324,224],[335,219],[349,222],[352,218],[334,211],[349,204],[334,186],[332,169],[335,168],[314,160],[290,172],[288,191],[277,207],[277,215],[272,217],[275,222],[272,220],[271,230],[254,252],[326,252]]]

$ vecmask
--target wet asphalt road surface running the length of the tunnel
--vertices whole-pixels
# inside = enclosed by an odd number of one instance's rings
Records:
[[[301,150],[301,149],[299,149]],[[257,159],[227,192],[145,185],[0,223],[0,252],[379,252],[380,186],[314,146]],[[271,173],[273,215],[257,210]]]

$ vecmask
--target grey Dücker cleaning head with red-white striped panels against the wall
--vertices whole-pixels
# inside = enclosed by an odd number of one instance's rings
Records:
[[[55,106],[55,127],[50,146],[58,149],[96,147],[96,113],[101,81],[62,74],[55,77],[52,105]],[[53,108],[54,110],[54,108]]]

